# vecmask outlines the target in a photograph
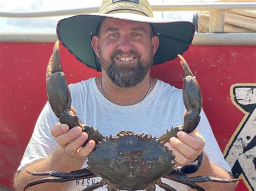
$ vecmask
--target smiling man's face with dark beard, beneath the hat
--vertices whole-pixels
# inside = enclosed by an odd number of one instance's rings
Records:
[[[149,72],[158,46],[158,38],[152,37],[150,30],[146,23],[112,18],[100,25],[92,46],[103,70],[117,86],[135,86]]]

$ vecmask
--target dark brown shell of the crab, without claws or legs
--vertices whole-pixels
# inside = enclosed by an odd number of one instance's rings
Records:
[[[174,155],[156,137],[119,132],[99,142],[87,164],[87,169],[110,185],[134,190],[144,189],[172,172],[175,162]]]

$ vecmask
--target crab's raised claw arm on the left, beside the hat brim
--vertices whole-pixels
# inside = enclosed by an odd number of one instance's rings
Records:
[[[96,144],[104,138],[98,131],[91,126],[84,125],[71,111],[71,94],[65,74],[62,71],[59,54],[59,41],[55,43],[53,53],[46,72],[46,91],[48,100],[54,114],[59,118],[60,123],[68,124],[69,128],[80,126],[83,132],[88,134],[89,140],[95,140]]]

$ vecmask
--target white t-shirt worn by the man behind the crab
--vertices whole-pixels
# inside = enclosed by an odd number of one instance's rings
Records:
[[[182,90],[160,80],[157,80],[156,86],[142,102],[129,106],[113,104],[107,100],[97,88],[95,77],[70,84],[70,90],[72,105],[77,111],[77,116],[84,124],[98,129],[103,136],[116,135],[119,131],[132,131],[134,133],[150,133],[152,136],[160,137],[172,126],[183,124],[185,107]],[[214,164],[231,172],[203,110],[200,115],[201,120],[197,130],[206,140],[204,152]],[[47,103],[37,120],[18,170],[35,160],[47,158],[57,147],[57,143],[50,133],[51,127],[56,123],[58,123],[58,118]],[[83,189],[98,181],[100,178],[73,181],[68,190]],[[167,182],[178,190],[188,190],[187,186],[177,182],[165,179],[163,182]],[[102,189],[106,190],[105,186]],[[157,190],[160,188],[157,187]]]

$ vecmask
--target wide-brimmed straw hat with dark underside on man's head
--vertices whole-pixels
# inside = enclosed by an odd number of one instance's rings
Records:
[[[77,15],[59,20],[57,37],[71,54],[91,68],[101,70],[91,39],[98,32],[104,18],[131,20],[149,23],[154,35],[159,38],[159,46],[153,58],[154,65],[172,60],[183,54],[191,45],[195,27],[191,22],[173,22],[153,18],[147,0],[104,0],[99,13]]]

